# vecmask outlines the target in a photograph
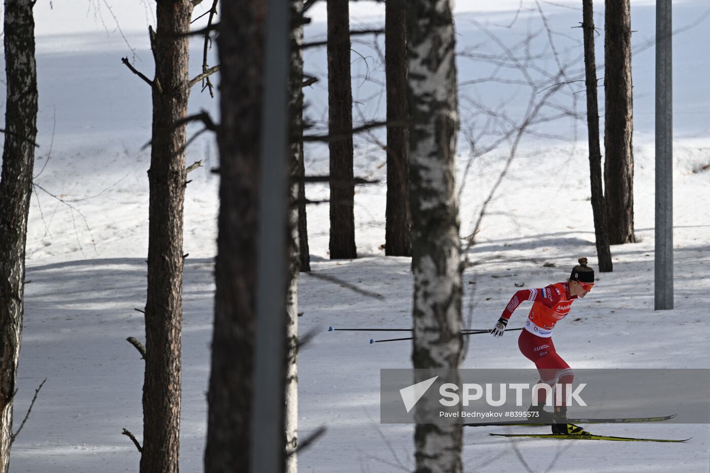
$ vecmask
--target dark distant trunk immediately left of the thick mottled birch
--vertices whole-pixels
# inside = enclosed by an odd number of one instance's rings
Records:
[[[387,121],[407,119],[407,34],[405,0],[385,6]],[[387,127],[387,206],[385,255],[411,256],[409,211],[409,127]]]

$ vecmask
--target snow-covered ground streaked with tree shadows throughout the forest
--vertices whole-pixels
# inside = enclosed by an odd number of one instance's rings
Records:
[[[145,2],[143,2],[145,3]],[[540,31],[533,45],[542,64],[552,67],[534,2],[504,1],[497,11],[481,11],[480,2],[457,5],[459,48],[495,46],[480,26],[514,44],[521,35]],[[581,21],[577,1],[541,2],[565,60],[579,55]],[[634,44],[638,48],[654,35],[651,1],[633,1]],[[141,2],[138,2],[141,4]],[[381,10],[354,2],[354,26],[382,23]],[[150,75],[146,21],[129,15],[124,3],[114,7],[126,40],[115,31],[112,16],[94,20],[87,6],[98,1],[38,2],[38,75],[40,117],[38,159],[27,244],[26,318],[18,374],[16,418],[22,418],[34,389],[46,377],[32,415],[13,445],[13,472],[137,471],[138,452],[121,435],[127,428],[141,438],[143,362],[126,337],[143,336],[143,318],[133,308],[145,304],[148,241],[149,150],[151,104],[148,88],[124,65],[135,60]],[[143,4],[141,4],[143,5]],[[65,8],[82,9],[81,21]],[[207,7],[205,7],[207,8]],[[600,8],[596,6],[596,8]],[[574,304],[569,318],[555,332],[555,344],[574,368],[710,368],[710,29],[707,6],[701,0],[674,4],[676,28],[692,26],[674,38],[674,271],[675,308],[653,312],[654,149],[653,48],[634,57],[635,84],[635,228],[639,243],[612,248],[614,272],[598,274],[591,294]],[[146,10],[147,11],[147,10]],[[124,13],[122,13],[124,12]],[[308,27],[310,38],[322,38],[322,11]],[[61,13],[61,14],[60,14]],[[598,11],[597,26],[603,26]],[[84,18],[85,16],[85,18]],[[74,18],[71,23],[67,18]],[[125,23],[124,23],[125,21]],[[510,28],[505,28],[511,23]],[[503,25],[503,26],[501,26]],[[562,34],[564,33],[564,34]],[[565,36],[569,36],[566,38]],[[602,35],[603,36],[603,35]],[[126,42],[135,48],[131,52]],[[200,69],[201,43],[192,49],[192,70]],[[546,49],[547,48],[547,49]],[[354,74],[381,75],[376,52],[354,48]],[[601,64],[601,38],[597,57]],[[133,57],[135,55],[135,58]],[[322,52],[308,52],[307,71],[322,74]],[[369,69],[368,69],[369,68]],[[462,58],[459,81],[487,77],[489,66]],[[579,64],[577,65],[579,69]],[[510,78],[515,72],[510,72]],[[603,75],[600,69],[599,76]],[[506,76],[504,76],[506,77]],[[356,79],[354,96],[365,116],[382,116],[376,84]],[[463,95],[495,108],[510,102],[513,118],[518,89],[484,84]],[[577,89],[579,88],[579,84]],[[574,90],[577,90],[574,89]],[[569,96],[558,104],[571,106]],[[603,91],[603,89],[600,89]],[[527,91],[518,100],[527,103]],[[584,111],[584,94],[577,94],[577,111]],[[308,92],[309,116],[323,118],[324,80]],[[600,105],[603,99],[600,97]],[[208,94],[192,92],[192,111],[216,114]],[[462,132],[474,129],[471,101],[461,100]],[[602,112],[603,113],[603,112]],[[356,116],[357,118],[357,116]],[[192,128],[195,132],[199,128]],[[589,165],[586,127],[567,118],[537,128],[557,138],[530,137],[523,141],[510,171],[496,192],[481,224],[478,244],[468,255],[464,274],[464,318],[469,327],[488,328],[497,320],[516,284],[543,286],[564,279],[580,256],[596,267],[594,226],[589,204]],[[463,135],[463,133],[462,133]],[[380,135],[381,136],[381,135]],[[574,137],[577,136],[575,140]],[[378,135],[374,135],[375,138]],[[484,137],[485,139],[485,137]],[[356,175],[385,178],[383,154],[367,137],[356,140]],[[488,196],[508,156],[499,148],[471,163],[466,140],[459,143],[461,235]],[[202,471],[206,429],[209,340],[212,336],[212,260],[215,255],[217,165],[214,143],[199,139],[188,151],[188,162],[204,160],[190,177],[185,204],[185,264],[183,334],[183,404],[181,468]],[[705,169],[704,169],[705,168]],[[307,172],[324,173],[327,152],[309,148]],[[464,174],[465,172],[465,174]],[[465,179],[463,178],[466,176]],[[385,186],[359,187],[356,194],[356,240],[360,258],[329,261],[327,205],[309,208],[312,269],[383,296],[373,299],[309,274],[300,278],[300,330],[320,334],[300,355],[301,438],[325,425],[326,435],[299,457],[304,472],[396,472],[413,467],[413,426],[379,423],[379,369],[410,366],[410,344],[368,344],[368,333],[327,333],[342,327],[410,327],[411,276],[409,260],[384,257]],[[327,187],[313,185],[310,199],[326,199]],[[58,199],[62,199],[59,201]],[[67,205],[68,204],[68,205]],[[554,267],[544,267],[554,263]],[[515,313],[518,326],[528,306]],[[493,340],[471,337],[464,367],[530,367],[518,352],[515,335]],[[666,413],[650,413],[662,415]],[[554,442],[488,438],[504,428],[467,429],[464,437],[466,472],[706,472],[710,467],[707,425],[597,425],[593,432],[638,437],[687,438],[684,444]]]

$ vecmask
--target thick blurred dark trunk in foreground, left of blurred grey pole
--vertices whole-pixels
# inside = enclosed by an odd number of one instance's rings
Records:
[[[219,231],[206,473],[249,472],[266,2],[222,4]]]

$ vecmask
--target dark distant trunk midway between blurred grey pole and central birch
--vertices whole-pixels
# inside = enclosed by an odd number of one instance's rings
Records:
[[[330,259],[355,258],[353,116],[348,0],[327,2],[330,150]]]

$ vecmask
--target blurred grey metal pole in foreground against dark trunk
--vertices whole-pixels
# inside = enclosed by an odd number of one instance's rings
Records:
[[[251,472],[283,472],[289,5],[268,0],[259,171]],[[239,465],[234,465],[236,469]]]

